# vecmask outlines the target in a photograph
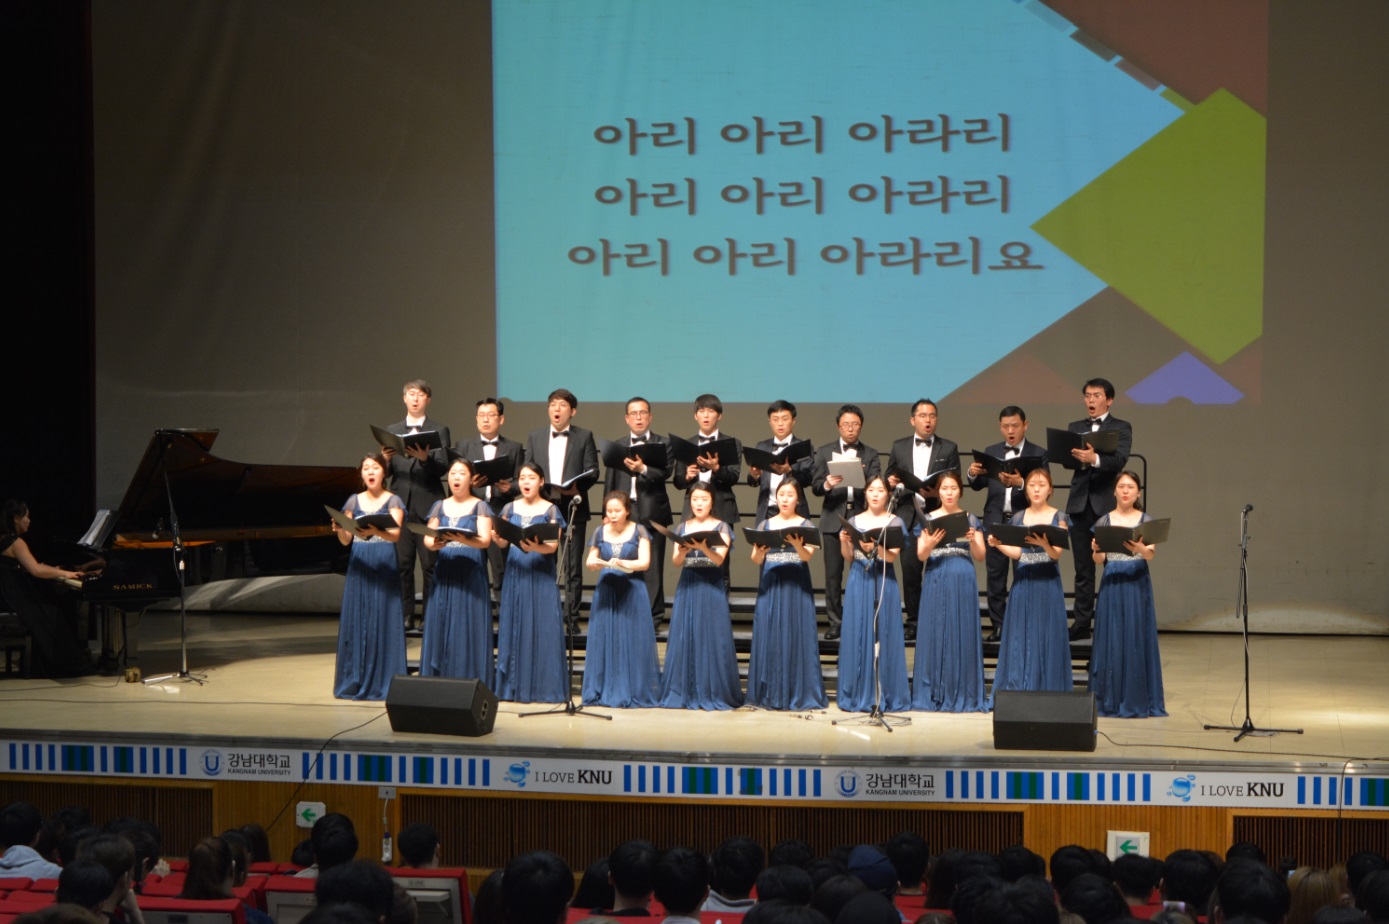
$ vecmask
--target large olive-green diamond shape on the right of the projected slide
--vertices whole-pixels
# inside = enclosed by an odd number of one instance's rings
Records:
[[[1218,90],[1032,228],[1224,363],[1264,328],[1265,135]]]

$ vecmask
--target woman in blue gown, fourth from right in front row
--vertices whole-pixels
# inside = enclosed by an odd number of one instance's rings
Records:
[[[906,534],[901,517],[888,513],[889,496],[882,477],[864,485],[868,509],[849,520],[853,528],[876,534],[885,527],[896,527]],[[911,707],[911,691],[907,686],[907,643],[901,631],[901,589],[892,567],[901,549],[883,549],[875,541],[854,543],[847,529],[839,532],[839,547],[853,566],[845,584],[835,703],[846,713],[867,713],[874,706],[883,713],[904,711]],[[874,682],[874,647],[878,650],[878,682]]]

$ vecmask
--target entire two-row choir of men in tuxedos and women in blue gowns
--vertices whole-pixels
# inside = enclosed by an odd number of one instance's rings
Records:
[[[1081,435],[1071,460],[1047,460],[1025,439],[1025,413],[1010,406],[999,414],[1003,442],[967,471],[956,445],[935,434],[936,406],[928,399],[913,406],[914,432],[893,446],[886,471],[858,439],[861,409],[843,406],[839,439],[814,449],[792,432],[795,406],[774,402],[772,439],[758,443],[767,454],[747,453],[764,465],[746,474],[746,484],[758,488],[757,527],[749,534],[738,528],[732,495],[745,479],[738,464],[745,453],[718,432],[718,399],[696,400],[699,434],[682,456],[681,446],[650,432],[650,404],[636,397],[626,404],[631,434],[603,445],[601,522],[583,543],[599,452],[593,435],[571,424],[578,411],[571,392],[551,393],[550,425],[524,446],[500,435],[503,403],[483,399],[479,436],[454,446],[447,429],[425,415],[429,386],[408,382],[407,417],[389,432],[429,436],[436,445],[406,440],[396,450],[368,453],[360,465],[363,490],[343,506],[356,522],[333,524],[339,541],[351,546],[333,693],[385,699],[392,678],[406,673],[418,557],[426,600],[421,675],[479,678],[503,700],[567,702],[565,627],[576,622],[582,563],[597,572],[583,703],[824,709],[829,700],[810,577],[818,554],[825,561],[825,638],[839,639],[836,704],[845,711],[986,711],[997,691],[1070,691],[1070,642],[1088,636],[1093,621],[1089,688],[1100,714],[1165,716],[1147,570],[1154,546],[1133,539],[1124,552],[1106,553],[1088,539],[1095,527],[1150,520],[1138,475],[1124,468],[1132,428],[1108,414],[1113,385],[1092,379],[1082,393],[1088,415],[1070,427]],[[1117,431],[1117,446],[1093,436],[1100,431]],[[665,452],[644,452],[649,443],[663,443]],[[496,460],[507,464],[499,468]],[[1050,503],[1049,461],[1072,468],[1065,511]],[[479,468],[504,477],[489,478]],[[685,495],[678,524],[667,481]],[[988,492],[982,520],[961,509],[967,486]],[[807,489],[822,499],[818,524],[808,515]],[[1007,527],[1022,529],[1007,535]],[[760,567],[746,691],[728,604],[729,556],[740,545],[750,546],[743,554]],[[667,549],[681,578],[663,664],[656,628],[664,617]],[[1070,549],[1082,550],[1071,628],[1058,567]],[[992,691],[983,673],[976,561],[988,561],[989,638],[999,642]],[[1104,571],[1096,602],[1097,564]],[[493,589],[500,600],[494,647]],[[401,607],[404,621],[397,618]]]

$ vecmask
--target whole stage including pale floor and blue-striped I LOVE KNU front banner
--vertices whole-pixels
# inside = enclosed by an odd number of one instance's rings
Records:
[[[1254,636],[1254,725],[1303,734],[1236,743],[1203,725],[1243,721],[1242,639],[1164,634],[1168,716],[1100,718],[1083,753],[996,750],[989,714],[908,713],[888,731],[833,706],[592,710],[604,720],[501,703],[485,736],[396,734],[383,704],[332,698],[336,627],[190,614],[189,666],[206,685],[11,675],[0,771],[665,799],[1386,805],[1375,781],[1389,777],[1389,638]],[[146,677],[178,668],[176,614],[146,614],[140,639]],[[418,647],[410,639],[413,659]]]

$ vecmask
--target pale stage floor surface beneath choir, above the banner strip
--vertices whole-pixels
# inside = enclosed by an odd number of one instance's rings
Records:
[[[814,713],[608,710],[522,718],[536,706],[501,703],[482,738],[407,735],[390,729],[381,703],[332,698],[338,621],[332,617],[189,617],[189,667],[207,684],[0,679],[0,738],[7,742],[189,743],[379,753],[544,754],[567,759],[761,766],[914,766],[1095,770],[1204,768],[1340,771],[1346,761],[1389,761],[1389,638],[1254,636],[1251,713],[1258,728],[1304,734],[1247,736],[1206,731],[1239,725],[1242,639],[1164,634],[1165,718],[1100,718],[1093,753],[999,752],[989,714],[910,713],[890,732],[831,706]],[[418,657],[419,639],[410,639]],[[911,653],[908,652],[908,660]],[[140,627],[146,677],[176,670],[178,617],[149,613]],[[19,770],[10,761],[11,771]],[[1385,768],[1378,768],[1379,774]]]

